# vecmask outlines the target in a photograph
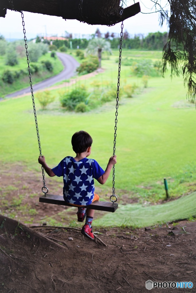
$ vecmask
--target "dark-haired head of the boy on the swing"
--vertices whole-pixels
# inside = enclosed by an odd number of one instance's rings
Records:
[[[92,145],[92,137],[86,131],[80,130],[72,136],[72,147],[75,153],[83,153]]]

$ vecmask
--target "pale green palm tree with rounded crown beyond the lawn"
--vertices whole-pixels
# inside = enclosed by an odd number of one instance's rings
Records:
[[[102,52],[106,51],[111,54],[110,42],[102,38],[94,38],[89,41],[87,53],[98,54],[99,68],[101,68]]]

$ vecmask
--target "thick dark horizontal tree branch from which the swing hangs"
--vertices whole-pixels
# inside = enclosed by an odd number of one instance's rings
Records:
[[[28,11],[89,24],[113,25],[140,12],[139,2],[122,9],[120,0],[1,0],[0,17],[6,10]]]

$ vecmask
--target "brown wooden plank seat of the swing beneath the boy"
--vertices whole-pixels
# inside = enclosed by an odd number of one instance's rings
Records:
[[[53,205],[66,205],[68,207],[73,207],[72,205],[69,205],[65,200],[63,199],[62,195],[53,195],[53,194],[47,194],[40,196],[39,202],[45,202],[45,203],[51,203]],[[95,200],[92,202],[91,205],[85,206],[87,209],[97,209],[98,211],[105,211],[105,212],[115,212],[115,210],[118,208],[118,204],[116,202],[104,202],[100,200]]]

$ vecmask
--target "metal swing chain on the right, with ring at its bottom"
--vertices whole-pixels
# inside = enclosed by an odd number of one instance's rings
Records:
[[[120,39],[120,48],[119,48],[119,71],[118,71],[118,83],[117,83],[117,96],[116,96],[116,118],[115,118],[115,127],[114,127],[114,148],[113,148],[113,156],[115,156],[116,151],[116,130],[117,130],[117,116],[118,116],[118,108],[119,108],[119,87],[120,87],[120,72],[121,72],[121,53],[122,53],[122,37],[123,37],[123,21],[121,23],[121,39]],[[115,165],[113,165],[113,187],[112,187],[112,195],[111,197],[115,197],[116,200],[112,200],[110,197],[111,202],[117,201],[117,197],[115,195]]]

